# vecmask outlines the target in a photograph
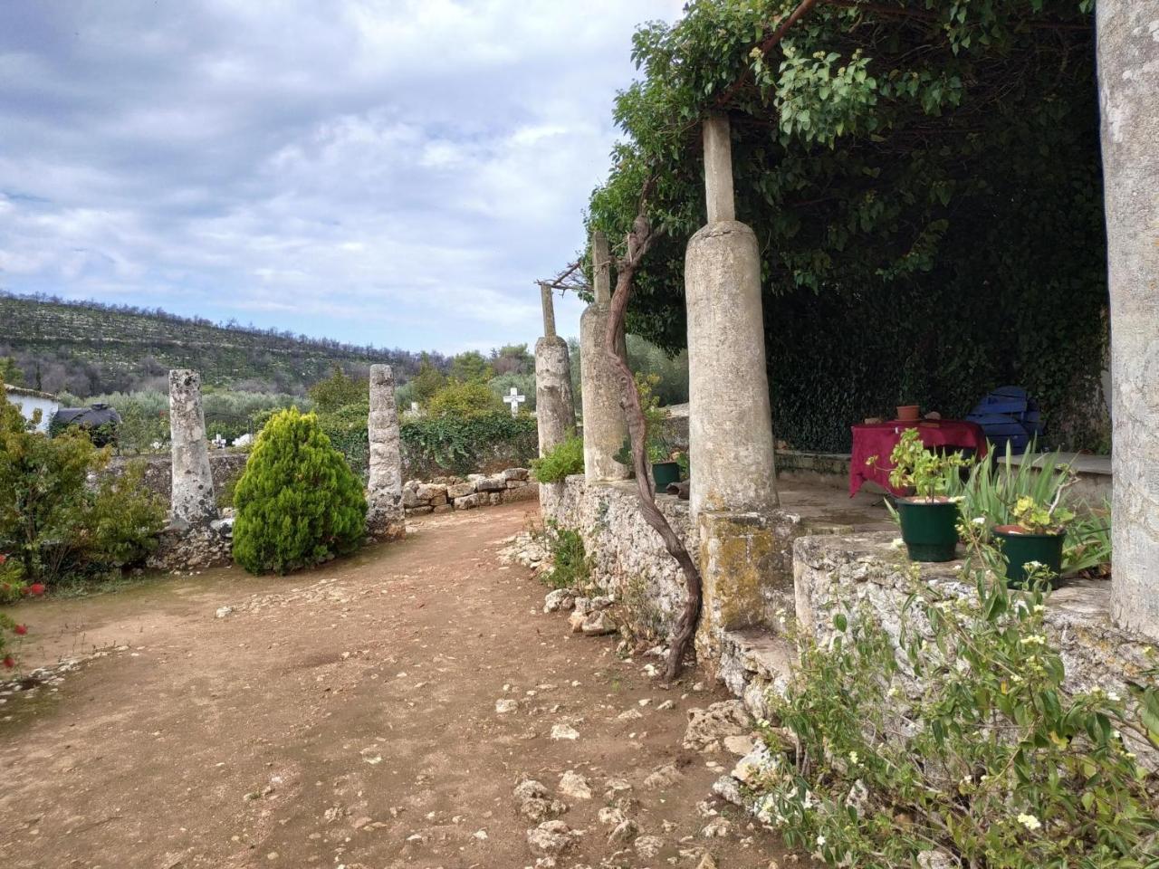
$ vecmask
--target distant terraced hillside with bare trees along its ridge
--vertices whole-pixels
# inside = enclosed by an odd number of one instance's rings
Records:
[[[87,396],[163,387],[169,368],[202,372],[212,386],[301,393],[334,363],[362,373],[388,363],[400,380],[418,370],[420,355],[355,346],[276,329],[181,317],[99,302],[0,293],[0,359],[12,357],[24,384]],[[433,360],[445,365],[442,356]]]

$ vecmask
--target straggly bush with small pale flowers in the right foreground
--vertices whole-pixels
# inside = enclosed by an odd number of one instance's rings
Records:
[[[848,598],[831,641],[800,641],[790,687],[770,696],[785,726],[766,729],[761,819],[830,866],[933,866],[919,855],[934,852],[987,869],[1154,867],[1154,769],[1132,750],[1159,745],[1153,678],[1132,688],[1142,717],[1099,688],[1066,693],[1045,585],[972,578],[976,599],[914,575],[901,648]]]

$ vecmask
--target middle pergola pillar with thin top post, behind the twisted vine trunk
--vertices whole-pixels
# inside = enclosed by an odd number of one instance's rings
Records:
[[[620,407],[619,374],[604,351],[612,305],[612,255],[604,233],[591,236],[596,300],[580,317],[580,388],[583,410],[583,468],[589,483],[626,480],[629,469],[612,457],[628,437]],[[624,336],[619,336],[622,345]]]

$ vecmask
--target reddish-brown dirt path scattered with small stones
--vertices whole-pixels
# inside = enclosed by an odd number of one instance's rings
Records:
[[[697,673],[662,689],[500,564],[527,513],[433,517],[291,577],[234,568],[22,604],[31,666],[115,648],[2,698],[0,866],[530,867],[524,776],[583,831],[560,867],[695,867],[702,849],[721,869],[783,862],[773,837],[702,802],[735,758],[680,747],[686,710],[724,695],[693,691]],[[679,775],[647,787],[666,764]],[[568,771],[590,799],[559,791]],[[599,810],[625,795],[658,853],[608,842]]]

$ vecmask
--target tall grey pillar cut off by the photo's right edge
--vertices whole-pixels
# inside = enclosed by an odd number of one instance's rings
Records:
[[[1110,287],[1111,614],[1159,640],[1159,2],[1095,6]]]

